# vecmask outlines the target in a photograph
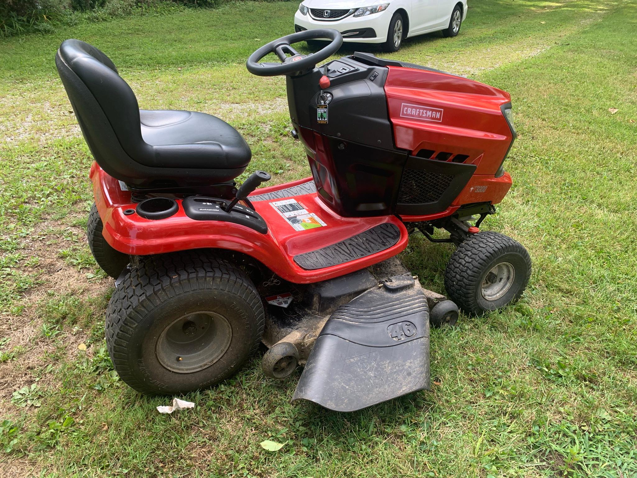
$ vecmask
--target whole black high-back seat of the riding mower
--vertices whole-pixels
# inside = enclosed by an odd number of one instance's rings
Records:
[[[233,180],[250,163],[250,147],[224,120],[140,110],[113,62],[88,43],[64,41],[55,64],[97,164],[132,189],[197,192]]]

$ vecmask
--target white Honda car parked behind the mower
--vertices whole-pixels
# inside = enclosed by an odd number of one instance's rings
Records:
[[[382,43],[385,51],[395,52],[404,38],[433,31],[456,36],[467,16],[467,0],[392,0],[369,6],[365,1],[303,0],[294,29],[333,28],[343,41]]]

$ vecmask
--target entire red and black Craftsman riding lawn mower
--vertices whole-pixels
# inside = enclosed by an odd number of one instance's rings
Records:
[[[331,40],[299,54],[298,41]],[[354,53],[311,30],[250,55],[285,75],[292,136],[311,178],[257,189],[234,179],[250,147],[204,113],[140,110],[113,62],[67,40],[55,62],[95,158],[89,245],[114,277],[106,342],[122,380],[179,394],[237,372],[264,344],[268,377],[304,365],[294,400],[359,410],[429,388],[429,325],[517,300],[526,249],[480,232],[511,186],[508,93],[435,69]],[[280,62],[262,62],[275,53]],[[444,229],[448,238],[434,238]],[[447,297],[396,258],[409,235],[457,246]],[[456,305],[457,304],[457,305]]]

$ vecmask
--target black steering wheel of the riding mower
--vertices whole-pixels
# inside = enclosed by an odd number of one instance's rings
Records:
[[[318,40],[328,38],[332,40],[325,48],[316,53],[303,55],[294,50],[290,45],[299,41]],[[343,36],[334,29],[322,28],[317,30],[299,31],[291,35],[282,36],[278,40],[271,41],[256,50],[245,63],[248,71],[257,76],[292,75],[298,71],[313,69],[318,62],[331,57],[343,44]],[[280,63],[261,63],[261,59],[269,53],[275,53]],[[290,54],[292,56],[287,56]]]

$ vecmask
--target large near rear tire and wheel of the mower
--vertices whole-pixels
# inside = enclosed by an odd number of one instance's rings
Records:
[[[203,252],[148,256],[106,310],[106,344],[124,382],[148,395],[210,387],[261,341],[264,309],[238,267]]]

